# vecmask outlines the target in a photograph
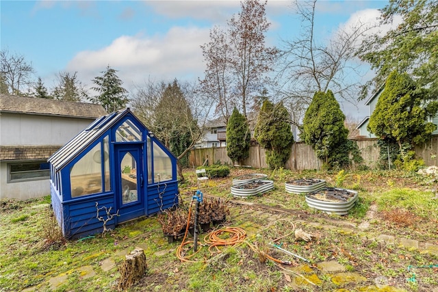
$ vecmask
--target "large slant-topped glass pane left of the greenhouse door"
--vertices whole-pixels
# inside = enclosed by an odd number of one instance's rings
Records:
[[[99,142],[70,169],[72,198],[102,192],[102,165],[97,159],[101,157],[101,147]]]

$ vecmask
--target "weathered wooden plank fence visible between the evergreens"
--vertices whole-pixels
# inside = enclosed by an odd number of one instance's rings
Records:
[[[357,143],[363,163],[370,168],[374,168],[378,161],[380,147],[377,146],[377,139],[359,139],[353,140]],[[429,142],[423,146],[415,148],[417,158],[424,160],[426,165],[437,165],[438,162],[438,136],[434,136]],[[434,157],[435,155],[435,157]],[[232,161],[227,156],[225,147],[219,148],[198,148],[190,151],[190,165],[203,165],[205,161],[211,165],[217,161],[220,163],[229,163]],[[316,158],[315,151],[311,146],[304,143],[294,143],[292,145],[292,153],[289,160],[285,164],[285,168],[289,170],[316,170],[319,169],[323,161]],[[265,149],[261,146],[250,146],[249,157],[243,161],[244,165],[252,168],[268,168],[265,159]]]

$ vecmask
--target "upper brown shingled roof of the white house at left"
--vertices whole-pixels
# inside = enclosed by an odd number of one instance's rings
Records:
[[[102,105],[93,103],[58,101],[11,94],[0,94],[0,112],[75,118],[99,118],[107,114]]]

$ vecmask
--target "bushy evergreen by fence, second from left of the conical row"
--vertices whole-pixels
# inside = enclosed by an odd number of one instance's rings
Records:
[[[274,105],[267,99],[263,101],[255,127],[255,139],[266,149],[266,163],[271,169],[282,168],[290,157],[294,135],[289,120],[283,103]]]

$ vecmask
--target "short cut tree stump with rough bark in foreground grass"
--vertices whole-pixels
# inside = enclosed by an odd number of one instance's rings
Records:
[[[146,255],[142,248],[136,248],[125,256],[125,261],[120,267],[120,280],[118,281],[118,291],[123,291],[138,280],[143,278],[148,266],[146,264]]]

